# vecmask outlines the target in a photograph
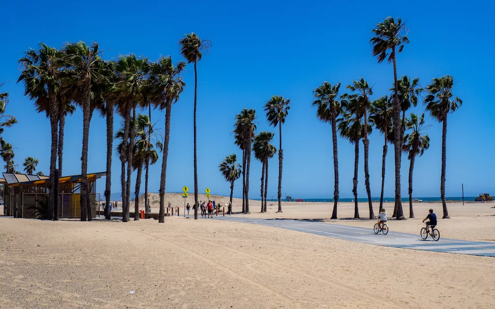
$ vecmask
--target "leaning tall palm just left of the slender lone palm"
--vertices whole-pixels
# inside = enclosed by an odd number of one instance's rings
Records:
[[[165,222],[165,186],[167,180],[168,144],[170,140],[170,119],[172,103],[179,100],[179,95],[186,84],[182,81],[182,71],[186,63],[183,61],[173,65],[171,57],[161,57],[150,65],[150,76],[146,85],[148,99],[158,109],[165,109],[165,138],[163,142],[163,159],[160,174],[160,213],[158,222]],[[148,163],[147,163],[148,164]],[[195,219],[198,219],[198,208],[195,209]]]

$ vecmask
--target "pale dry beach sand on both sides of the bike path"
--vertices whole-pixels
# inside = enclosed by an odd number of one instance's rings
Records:
[[[433,205],[415,205],[423,217]],[[443,237],[494,239],[495,204],[449,205]],[[388,212],[391,212],[392,207]],[[441,206],[440,206],[441,207]],[[350,217],[353,205],[339,204]],[[258,217],[329,218],[332,205]],[[361,216],[367,205],[360,205]],[[420,216],[421,214],[421,216]],[[423,219],[423,218],[421,218]],[[372,221],[332,221],[372,226]],[[417,232],[421,221],[390,221]],[[487,236],[490,235],[490,236]],[[495,308],[495,260],[379,247],[275,227],[167,217],[0,217],[0,308]],[[130,291],[136,291],[130,294]]]

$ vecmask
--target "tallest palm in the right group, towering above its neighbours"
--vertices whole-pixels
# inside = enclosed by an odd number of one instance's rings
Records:
[[[402,202],[400,200],[400,159],[402,153],[402,139],[400,138],[400,102],[398,99],[398,87],[397,87],[397,65],[396,65],[396,51],[401,52],[404,48],[404,44],[408,44],[409,40],[404,35],[406,29],[405,24],[402,23],[400,18],[395,20],[392,17],[387,17],[383,22],[377,24],[376,28],[371,32],[373,38],[370,43],[373,45],[373,56],[376,56],[378,63],[382,63],[387,58],[388,50],[391,49],[390,56],[387,62],[393,62],[394,64],[394,154],[395,154],[395,174],[396,174],[396,195],[395,204],[397,209],[396,218],[404,219],[402,211]],[[397,50],[396,50],[397,49]]]

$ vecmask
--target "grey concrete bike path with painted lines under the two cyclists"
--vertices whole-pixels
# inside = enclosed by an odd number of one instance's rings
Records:
[[[442,230],[440,230],[440,240],[434,241],[430,235],[426,240],[421,239],[421,236],[419,235],[420,227],[418,227],[417,235],[395,232],[393,230],[390,230],[387,235],[383,235],[381,232],[379,234],[375,234],[372,228],[331,224],[318,221],[256,219],[230,216],[215,216],[213,218],[217,220],[238,221],[280,227],[299,232],[356,241],[377,246],[495,257],[495,243],[442,238]],[[370,224],[374,224],[374,222],[370,221]]]

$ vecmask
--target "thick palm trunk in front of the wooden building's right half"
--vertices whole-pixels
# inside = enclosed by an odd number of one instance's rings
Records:
[[[83,151],[81,156],[81,221],[91,221],[91,205],[88,205],[89,187],[88,187],[88,142],[90,133],[90,88],[91,84],[88,83],[84,89],[84,101],[83,101]],[[86,213],[83,214],[83,209]],[[88,212],[89,210],[89,212]]]

